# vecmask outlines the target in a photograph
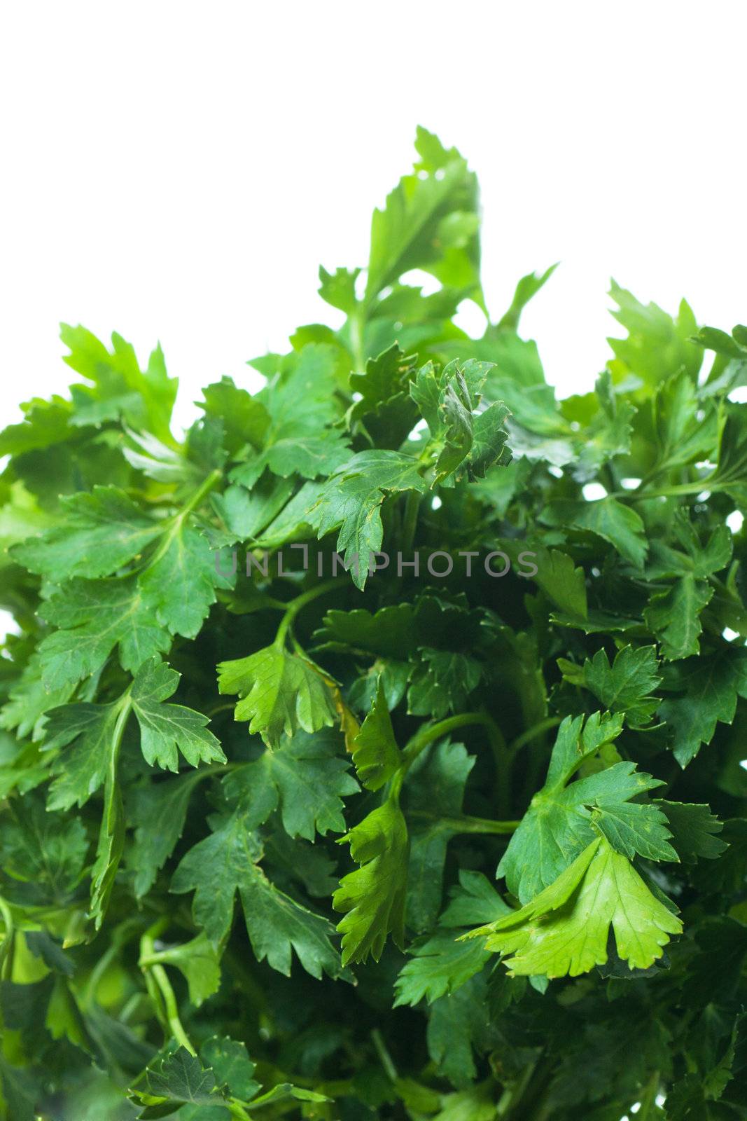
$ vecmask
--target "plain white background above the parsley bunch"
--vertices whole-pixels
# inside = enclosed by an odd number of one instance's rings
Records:
[[[16,3],[0,46],[2,387],[64,391],[57,322],[157,339],[202,385],[335,313],[417,123],[483,188],[488,303],[562,262],[524,319],[561,392],[615,332],[609,276],[747,318],[740,2]]]

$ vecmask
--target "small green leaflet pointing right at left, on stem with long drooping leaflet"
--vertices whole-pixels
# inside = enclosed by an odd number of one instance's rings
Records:
[[[140,747],[146,762],[178,770],[178,751],[190,767],[200,762],[224,763],[218,740],[205,726],[207,716],[180,704],[165,704],[176,691],[179,674],[152,658],[138,670],[132,683],[132,708],[140,724]]]

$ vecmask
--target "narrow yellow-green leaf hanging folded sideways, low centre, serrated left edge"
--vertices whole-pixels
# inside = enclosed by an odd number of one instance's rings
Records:
[[[400,948],[404,944],[408,826],[402,810],[387,799],[343,841],[361,864],[343,877],[333,897],[335,910],[344,912],[337,925],[343,935],[343,964],[365,962],[368,954],[377,962],[389,934]]]

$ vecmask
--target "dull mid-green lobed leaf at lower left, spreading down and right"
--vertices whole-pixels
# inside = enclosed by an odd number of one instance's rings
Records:
[[[193,915],[214,946],[231,929],[239,892],[249,941],[259,962],[290,975],[295,951],[307,973],[320,978],[340,973],[339,957],[329,941],[326,919],[302,907],[268,880],[258,861],[262,846],[242,812],[216,822],[214,832],[184,856],[171,891],[195,891]]]

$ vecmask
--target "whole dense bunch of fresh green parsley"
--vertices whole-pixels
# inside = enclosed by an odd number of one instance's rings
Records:
[[[558,401],[417,150],[260,392],[0,434],[7,1119],[747,1117],[747,328]]]

